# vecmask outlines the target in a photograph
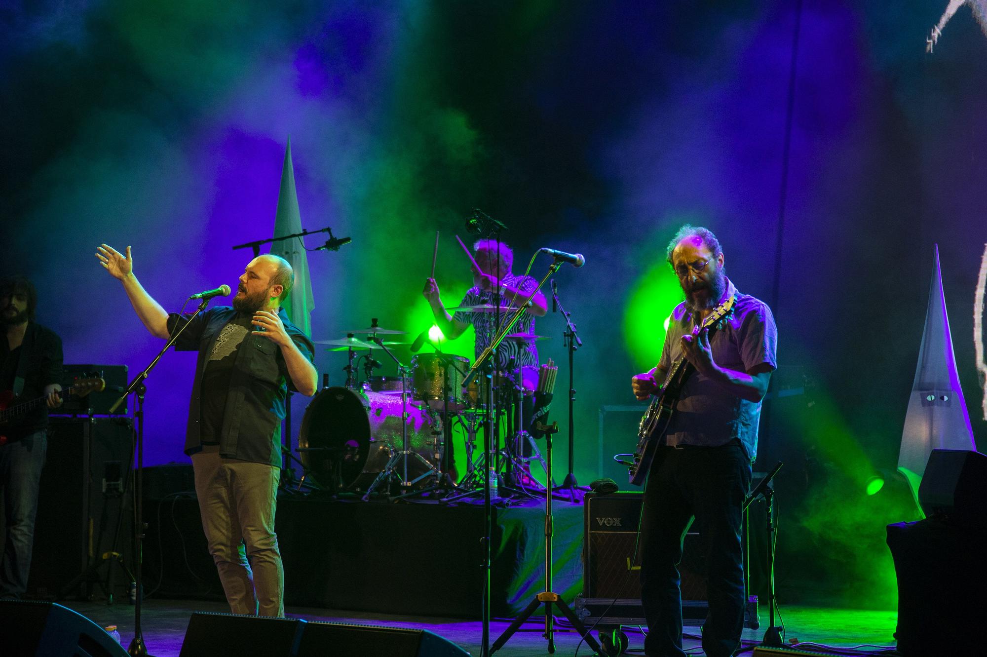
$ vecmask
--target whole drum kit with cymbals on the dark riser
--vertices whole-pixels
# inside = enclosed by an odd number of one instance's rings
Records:
[[[468,358],[436,348],[433,353],[415,354],[406,366],[392,352],[408,344],[402,338],[406,331],[381,328],[374,319],[368,328],[343,332],[344,338],[315,340],[328,350],[347,353],[342,368],[346,380],[343,386],[331,387],[324,379],[323,389],[305,410],[298,437],[303,484],[307,481],[334,494],[354,493],[364,500],[375,492],[391,497],[395,486],[394,498],[431,493],[452,500],[482,489],[493,468],[506,482],[523,478],[517,492],[543,490],[527,475],[527,462],[541,460],[541,454],[523,430],[523,418],[516,415],[525,398],[551,393],[557,372],[551,363],[541,370],[526,366],[498,372],[464,387]],[[540,336],[516,333],[509,338]],[[378,349],[395,361],[396,376],[375,374],[382,367],[374,359]],[[491,385],[495,410],[487,404]],[[488,412],[505,420],[511,438],[497,451],[491,467],[483,463],[482,451],[474,458],[477,433]],[[451,458],[453,427],[465,434],[467,472],[459,480]],[[494,433],[502,433],[499,426]]]

